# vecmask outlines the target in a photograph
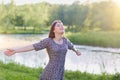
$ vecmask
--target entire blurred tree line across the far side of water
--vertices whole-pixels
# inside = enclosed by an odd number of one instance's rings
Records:
[[[63,21],[67,30],[120,30],[120,6],[115,2],[101,1],[71,5],[50,4],[47,2],[15,5],[0,4],[0,28],[16,29],[47,27],[55,19]]]

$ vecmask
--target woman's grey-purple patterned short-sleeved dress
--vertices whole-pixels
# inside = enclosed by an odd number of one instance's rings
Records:
[[[52,38],[33,44],[36,51],[46,48],[49,56],[49,62],[39,80],[64,80],[65,57],[67,49],[72,49],[73,44],[66,38],[62,39],[62,44],[57,44]]]

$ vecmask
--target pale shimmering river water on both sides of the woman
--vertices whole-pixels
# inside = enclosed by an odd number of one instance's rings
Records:
[[[16,62],[28,67],[45,67],[48,63],[48,55],[45,49],[15,54],[7,57],[3,54],[7,48],[18,48],[39,42],[47,35],[33,34],[10,34],[0,35],[0,61],[4,63]],[[120,72],[120,48],[103,48],[93,46],[75,45],[82,53],[81,56],[68,50],[66,55],[65,69],[93,74],[115,74]]]

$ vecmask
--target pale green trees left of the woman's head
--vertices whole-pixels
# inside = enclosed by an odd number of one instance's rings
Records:
[[[48,26],[49,8],[50,5],[48,3],[16,6],[14,1],[11,1],[9,4],[0,4],[0,33],[17,33],[19,30],[15,30],[16,26],[24,27],[24,31],[20,29],[20,33],[38,33],[38,30],[42,31],[40,29]],[[33,27],[32,32],[29,32],[26,29],[27,27]]]

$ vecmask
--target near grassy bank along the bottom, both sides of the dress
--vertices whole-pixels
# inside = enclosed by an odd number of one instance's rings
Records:
[[[29,68],[23,65],[0,62],[0,80],[38,80],[42,68]],[[119,80],[120,74],[95,75],[79,71],[65,71],[65,80]]]

